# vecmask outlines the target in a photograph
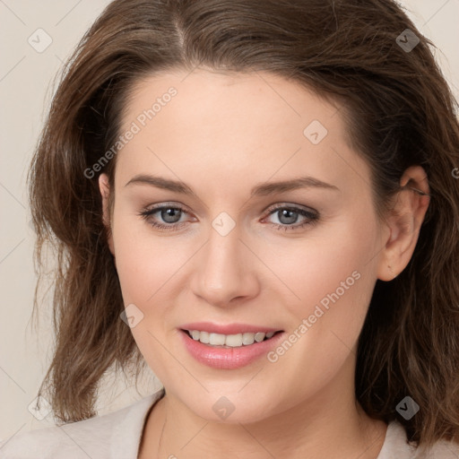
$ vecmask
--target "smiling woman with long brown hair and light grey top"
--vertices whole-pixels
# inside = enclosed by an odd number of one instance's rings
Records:
[[[4,457],[458,457],[459,127],[430,45],[390,0],[109,4],[30,169],[63,424]],[[145,363],[164,387],[95,416]]]

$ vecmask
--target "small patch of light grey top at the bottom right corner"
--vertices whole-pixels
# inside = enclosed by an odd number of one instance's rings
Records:
[[[458,459],[459,444],[437,441],[428,449],[417,448],[409,443],[405,429],[397,420],[393,420],[387,427],[385,442],[377,459]]]

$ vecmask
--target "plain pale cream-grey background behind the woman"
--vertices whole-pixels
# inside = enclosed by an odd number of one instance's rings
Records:
[[[39,420],[28,410],[51,358],[52,336],[49,304],[43,305],[39,334],[30,321],[36,278],[26,175],[54,91],[53,78],[108,3],[0,0],[0,440],[52,425],[52,415]],[[401,4],[409,9],[420,31],[437,45],[437,61],[459,97],[459,0],[404,0]],[[36,38],[38,29],[46,30],[52,39],[40,53],[28,42],[31,36],[44,43],[44,35]],[[157,387],[154,377],[141,382],[140,394],[132,383],[108,382],[100,394],[99,413],[133,403]]]

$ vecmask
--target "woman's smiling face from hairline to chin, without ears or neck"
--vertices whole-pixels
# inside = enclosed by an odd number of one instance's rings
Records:
[[[110,244],[169,396],[226,422],[353,396],[390,230],[339,107],[273,74],[160,74],[138,84],[120,134]],[[282,332],[249,344],[263,331]]]

